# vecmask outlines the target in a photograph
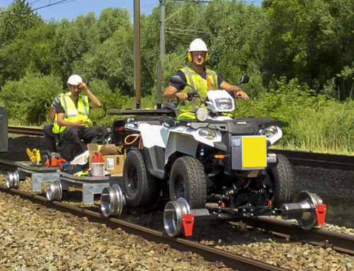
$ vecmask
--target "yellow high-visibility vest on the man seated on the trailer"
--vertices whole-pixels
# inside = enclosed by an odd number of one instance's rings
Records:
[[[64,120],[67,122],[86,122],[85,127],[91,127],[92,122],[89,119],[90,105],[89,98],[85,95],[79,95],[77,108],[70,95],[64,94],[60,97],[60,104],[64,108]],[[59,132],[64,131],[66,126],[61,126]]]

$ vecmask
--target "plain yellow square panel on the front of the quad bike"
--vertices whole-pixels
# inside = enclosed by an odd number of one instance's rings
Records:
[[[242,167],[265,168],[266,166],[266,137],[242,137]]]

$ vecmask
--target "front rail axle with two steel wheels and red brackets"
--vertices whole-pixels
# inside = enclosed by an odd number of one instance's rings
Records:
[[[264,215],[281,216],[282,219],[296,219],[304,230],[324,224],[326,204],[315,193],[306,190],[299,192],[293,203],[282,204],[280,208],[242,206],[237,209],[209,206],[203,209],[190,209],[184,198],[168,202],[164,209],[164,228],[171,237],[192,236],[193,226],[201,220],[236,220],[244,217]]]

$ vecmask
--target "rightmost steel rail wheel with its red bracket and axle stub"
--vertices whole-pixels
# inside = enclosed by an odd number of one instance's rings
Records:
[[[313,226],[316,226],[316,223],[318,225],[324,224],[326,204],[319,195],[303,190],[294,197],[293,201],[294,203],[282,204],[281,209],[285,212],[291,211],[291,209],[302,209],[302,212],[295,215],[295,219],[302,229],[309,231]]]

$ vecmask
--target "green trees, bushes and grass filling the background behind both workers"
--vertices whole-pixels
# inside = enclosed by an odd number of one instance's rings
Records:
[[[106,8],[99,16],[91,12],[73,21],[44,22],[28,1],[14,0],[1,14],[0,103],[11,119],[24,125],[47,121],[52,99],[74,73],[103,104],[91,111],[94,123],[110,125],[109,108],[134,107],[129,11]],[[154,108],[156,101],[159,16],[159,6],[141,16],[143,108]],[[283,146],[352,149],[353,0],[263,0],[262,6],[166,1],[165,25],[162,91],[169,76],[188,65],[190,41],[202,38],[209,48],[208,68],[229,83],[242,74],[251,77],[242,88],[252,100],[239,101],[237,115],[285,122]]]

